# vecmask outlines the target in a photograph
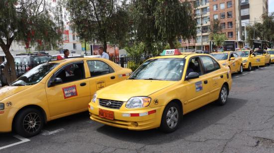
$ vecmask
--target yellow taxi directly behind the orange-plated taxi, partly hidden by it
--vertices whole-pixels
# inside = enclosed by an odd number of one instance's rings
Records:
[[[210,55],[217,59],[223,66],[229,67],[232,74],[236,72],[239,74],[243,73],[242,58],[235,52],[217,52],[211,53]]]

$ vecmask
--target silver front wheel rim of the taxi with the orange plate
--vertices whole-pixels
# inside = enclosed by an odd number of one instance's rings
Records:
[[[176,107],[170,107],[166,114],[166,123],[170,129],[173,129],[178,124],[179,113]]]

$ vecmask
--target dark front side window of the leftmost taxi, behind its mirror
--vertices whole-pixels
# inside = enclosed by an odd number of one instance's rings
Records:
[[[76,81],[85,78],[85,69],[83,62],[68,64],[57,71],[54,75],[62,79],[63,83]],[[53,78],[53,79],[54,79]]]

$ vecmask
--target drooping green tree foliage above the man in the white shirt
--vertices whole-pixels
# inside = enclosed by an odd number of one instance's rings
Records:
[[[120,4],[122,2],[122,4]],[[119,0],[68,0],[72,28],[82,40],[124,45],[129,32],[129,15]]]

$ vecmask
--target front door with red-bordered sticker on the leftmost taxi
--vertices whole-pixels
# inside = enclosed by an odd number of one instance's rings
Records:
[[[62,82],[51,84],[56,78],[61,78]],[[50,77],[45,88],[51,117],[85,110],[91,100],[83,61],[61,67]]]

